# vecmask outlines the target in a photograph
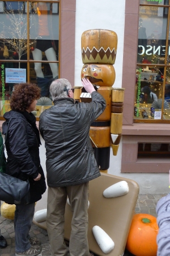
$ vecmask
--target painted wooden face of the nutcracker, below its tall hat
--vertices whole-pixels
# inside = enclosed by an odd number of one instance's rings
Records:
[[[112,86],[115,80],[113,65],[85,64],[82,68],[81,78],[86,77],[92,84],[99,86]]]

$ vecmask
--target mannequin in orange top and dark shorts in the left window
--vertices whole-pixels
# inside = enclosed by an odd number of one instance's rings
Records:
[[[33,5],[37,12],[37,26],[36,26],[36,46],[32,51],[33,60],[42,60],[42,52],[44,52],[46,60],[55,61],[49,62],[50,71],[53,79],[58,78],[58,64],[56,56],[56,42],[58,36],[54,35],[52,24],[56,24],[58,20],[57,16],[52,13],[52,6],[50,3],[38,2]],[[50,14],[48,16],[48,12]],[[51,78],[42,72],[42,63],[35,62],[35,72],[37,84],[41,88],[41,96],[49,97],[49,81],[52,82]]]

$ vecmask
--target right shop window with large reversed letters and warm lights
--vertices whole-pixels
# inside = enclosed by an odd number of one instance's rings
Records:
[[[169,11],[167,0],[140,0],[134,102],[136,123],[169,123],[170,120]]]

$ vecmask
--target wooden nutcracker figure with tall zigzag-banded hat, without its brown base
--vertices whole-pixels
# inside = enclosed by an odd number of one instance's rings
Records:
[[[100,171],[103,172],[107,172],[109,168],[111,144],[113,155],[117,155],[121,139],[124,90],[112,88],[116,77],[113,67],[116,51],[117,34],[114,31],[95,29],[83,32],[82,61],[84,65],[81,78],[89,79],[107,102],[104,112],[91,124],[90,128],[96,162]],[[86,93],[80,95],[81,101],[88,102],[87,98],[88,101],[91,100]]]

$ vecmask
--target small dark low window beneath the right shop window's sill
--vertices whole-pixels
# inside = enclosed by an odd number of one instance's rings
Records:
[[[138,143],[138,159],[139,158],[159,158],[169,159],[170,144],[169,143]]]

